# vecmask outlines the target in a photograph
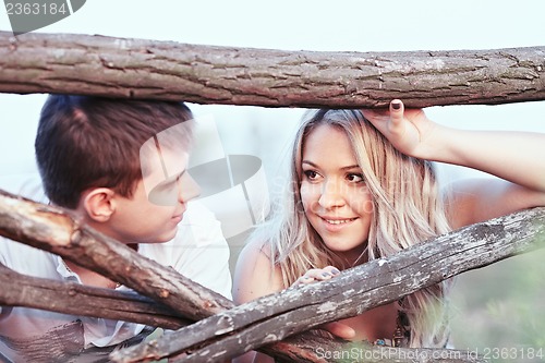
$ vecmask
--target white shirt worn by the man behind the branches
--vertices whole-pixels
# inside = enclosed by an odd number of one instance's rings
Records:
[[[231,299],[229,246],[219,221],[198,202],[189,203],[174,239],[140,244],[138,253]],[[60,256],[7,239],[0,240],[0,263],[20,274],[81,283]],[[142,324],[4,306],[0,362],[107,362],[116,344],[136,343],[150,331]]]

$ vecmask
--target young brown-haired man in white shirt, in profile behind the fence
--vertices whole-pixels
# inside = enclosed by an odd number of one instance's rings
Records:
[[[192,113],[181,102],[49,96],[36,159],[50,203],[185,277],[230,297],[229,247],[214,215],[189,203]],[[117,288],[60,256],[0,241],[0,263],[55,280]],[[144,339],[140,324],[0,307],[0,361],[107,361],[120,343]]]

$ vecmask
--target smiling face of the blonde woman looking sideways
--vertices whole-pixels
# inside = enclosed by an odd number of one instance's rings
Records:
[[[367,245],[373,203],[347,134],[326,124],[314,129],[301,167],[308,221],[329,250],[355,262]]]

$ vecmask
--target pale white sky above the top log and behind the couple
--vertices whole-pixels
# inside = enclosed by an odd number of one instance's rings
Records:
[[[544,14],[542,0],[87,0],[70,17],[37,32],[284,50],[496,49],[543,46]],[[11,31],[3,9],[0,29]],[[0,94],[0,189],[17,192],[36,171],[34,136],[44,100],[44,95]],[[191,108],[197,116],[214,117],[227,154],[261,157],[269,179],[303,111],[199,105]],[[545,101],[436,107],[426,112],[437,122],[462,129],[545,132]],[[469,174],[457,168],[444,171],[448,178]],[[486,312],[475,314],[484,316]]]

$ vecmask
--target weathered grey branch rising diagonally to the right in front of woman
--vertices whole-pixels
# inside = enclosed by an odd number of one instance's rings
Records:
[[[172,354],[183,354],[180,362],[229,359],[536,247],[544,235],[545,208],[492,219],[372,261],[332,280],[237,306],[153,343],[118,351],[112,359],[136,362]]]

